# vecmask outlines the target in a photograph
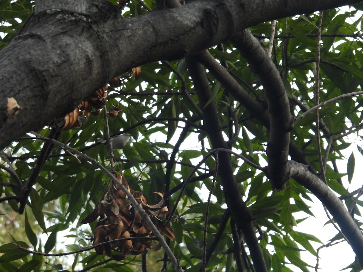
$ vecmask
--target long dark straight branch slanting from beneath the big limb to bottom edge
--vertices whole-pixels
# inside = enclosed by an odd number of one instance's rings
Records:
[[[204,67],[189,58],[187,65],[189,73],[192,77],[193,84],[197,91],[200,107],[203,112],[203,125],[207,131],[212,143],[213,149],[226,148],[228,144],[223,139],[221,123],[216,109],[215,101],[212,100],[208,105],[207,102],[211,97],[212,91],[209,87],[207,76],[205,75]],[[238,187],[233,174],[231,159],[227,152],[219,154],[219,176],[223,185],[223,192],[228,208],[231,209],[233,218],[236,220],[238,228],[240,228],[246,238],[246,243],[249,247],[253,264],[257,271],[267,271],[264,257],[260,245],[252,225],[252,216],[246,204],[242,201],[241,191]]]

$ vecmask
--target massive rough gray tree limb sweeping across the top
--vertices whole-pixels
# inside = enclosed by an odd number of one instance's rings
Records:
[[[107,1],[38,0],[23,33],[0,54],[0,148],[131,67],[181,58],[263,21],[359,2],[200,0],[123,18]]]

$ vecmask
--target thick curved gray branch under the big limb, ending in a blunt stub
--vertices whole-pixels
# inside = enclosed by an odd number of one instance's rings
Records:
[[[268,100],[270,112],[270,139],[267,144],[268,168],[266,176],[276,189],[284,189],[289,181],[286,167],[289,155],[290,131],[293,116],[280,73],[260,42],[246,29],[232,37],[233,45],[257,74]]]

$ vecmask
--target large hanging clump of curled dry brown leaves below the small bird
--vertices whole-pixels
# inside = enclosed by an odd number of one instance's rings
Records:
[[[159,219],[168,214],[167,207],[164,207],[163,194],[155,192],[160,195],[161,201],[156,205],[148,205],[143,193],[130,189],[122,174],[119,175],[118,179],[129,192],[132,192],[136,201],[149,215],[160,233],[173,240],[175,238],[173,230],[170,226],[165,226],[164,221]],[[154,236],[125,193],[114,183],[110,185],[103,199],[95,206],[93,212],[83,219],[81,223],[90,223],[99,217],[100,219],[94,230],[94,245],[120,238]],[[132,239],[108,243],[96,247],[95,251],[98,255],[106,253],[115,260],[123,260],[127,255],[138,255],[146,248],[157,251],[160,247],[156,240]],[[113,251],[117,253],[113,253]]]

